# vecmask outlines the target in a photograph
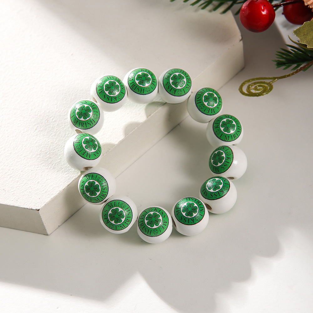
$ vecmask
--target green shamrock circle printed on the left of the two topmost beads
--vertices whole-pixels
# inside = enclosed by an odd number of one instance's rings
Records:
[[[148,95],[156,89],[157,78],[149,69],[134,69],[128,75],[130,89],[138,95]]]

